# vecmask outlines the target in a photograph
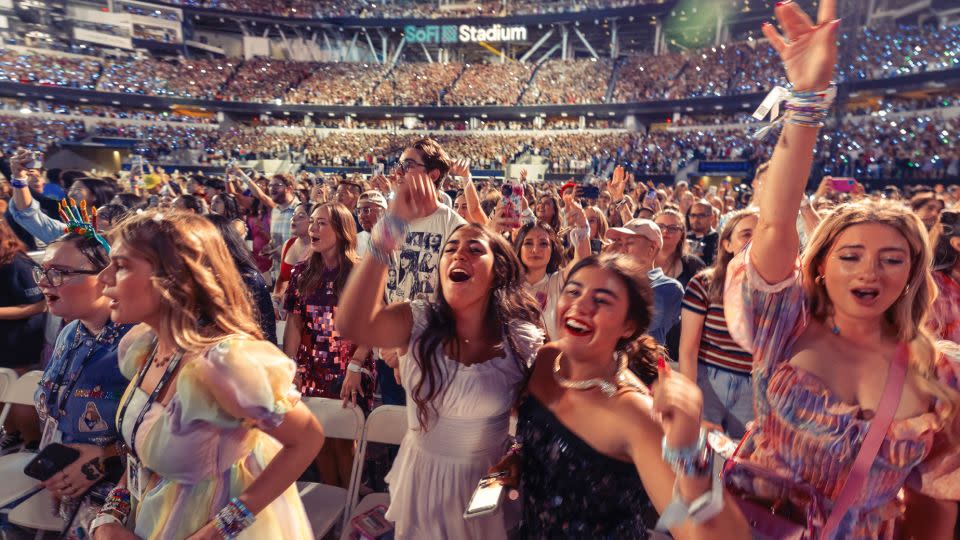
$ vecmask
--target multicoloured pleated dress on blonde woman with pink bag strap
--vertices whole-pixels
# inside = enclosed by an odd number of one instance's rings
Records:
[[[796,366],[793,344],[809,319],[799,268],[784,281],[766,283],[750,262],[750,248],[731,263],[724,288],[730,334],[753,353],[756,423],[740,455],[813,487],[831,505],[870,427],[858,405],[843,402],[823,380]],[[937,378],[958,388],[960,364],[941,355]],[[897,492],[905,484],[933,498],[960,499],[960,448],[942,432],[946,404],[894,420],[880,446],[866,484],[841,521],[834,538],[892,539],[903,509]],[[771,486],[734,468],[731,481],[761,499]],[[822,523],[814,519],[814,529]]]

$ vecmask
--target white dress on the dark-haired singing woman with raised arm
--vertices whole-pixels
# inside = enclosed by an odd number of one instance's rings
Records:
[[[414,301],[413,329],[407,353],[400,357],[400,377],[407,394],[408,431],[387,475],[390,508],[397,538],[451,540],[506,538],[512,523],[501,509],[463,518],[477,482],[507,447],[510,410],[524,379],[521,364],[531,365],[543,334],[527,323],[510,325],[511,347],[502,357],[464,366],[437,353],[446,393],[436,402],[426,431],[417,421],[413,389],[421,372],[414,359],[417,339],[426,328],[427,304]],[[432,410],[431,410],[432,412]]]

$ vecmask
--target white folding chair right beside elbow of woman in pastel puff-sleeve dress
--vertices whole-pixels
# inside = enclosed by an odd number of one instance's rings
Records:
[[[326,438],[360,442],[363,437],[364,418],[359,407],[344,408],[343,402],[338,399],[304,398],[303,402],[320,421]],[[300,490],[300,499],[316,538],[323,538],[342,523],[344,516],[349,515],[350,494],[356,489],[355,484],[358,481],[358,459],[361,459],[359,451],[353,458],[350,482],[346,489],[328,484],[300,483],[307,484]]]

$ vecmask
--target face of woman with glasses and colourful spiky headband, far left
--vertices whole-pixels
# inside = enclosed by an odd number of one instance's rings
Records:
[[[80,253],[76,244],[69,240],[47,246],[40,266],[44,270],[55,268],[61,272],[97,270]],[[66,274],[59,286],[52,285],[43,277],[37,285],[47,299],[50,313],[67,320],[86,318],[91,308],[107,302],[103,298],[103,285],[97,281],[96,274]]]

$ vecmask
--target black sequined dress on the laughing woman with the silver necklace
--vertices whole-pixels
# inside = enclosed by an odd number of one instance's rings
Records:
[[[530,394],[520,400],[520,538],[649,538],[657,511],[632,463],[597,452]]]

